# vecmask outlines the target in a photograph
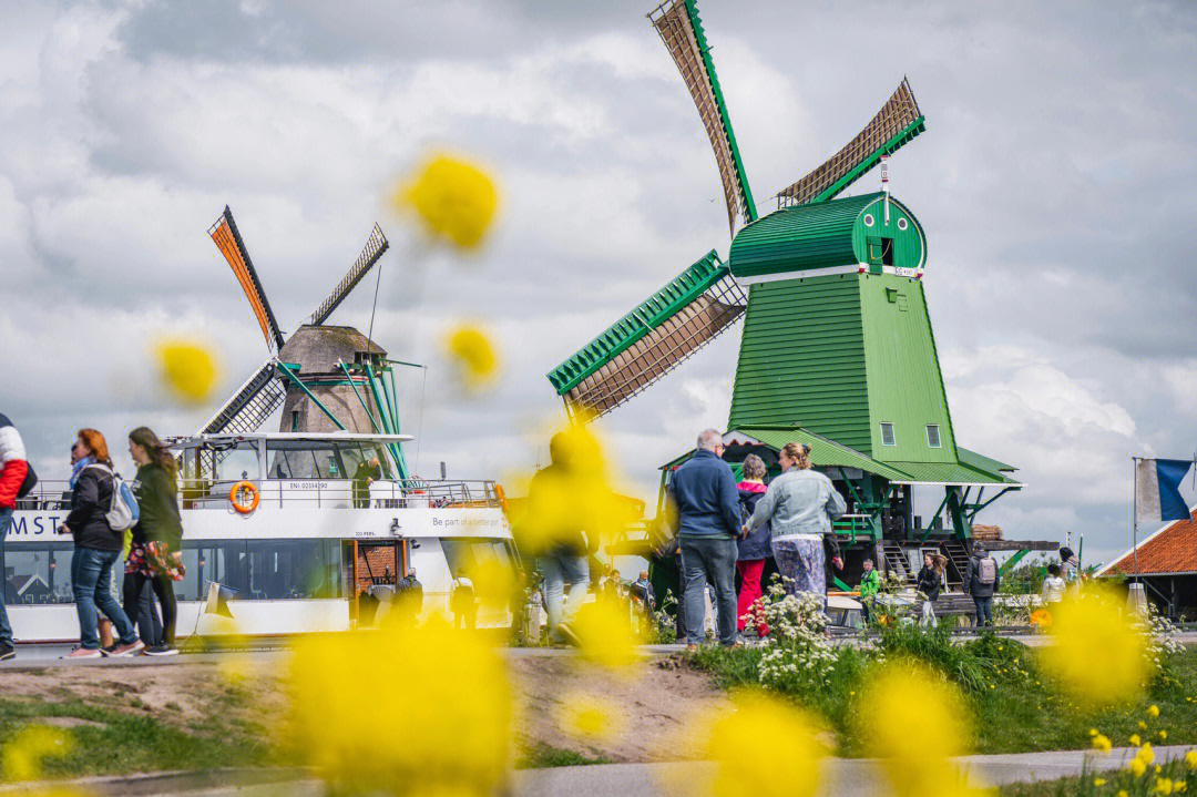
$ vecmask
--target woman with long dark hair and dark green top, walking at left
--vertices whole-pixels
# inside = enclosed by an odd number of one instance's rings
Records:
[[[162,606],[162,637],[153,639],[146,656],[174,656],[178,602],[175,582],[187,574],[182,560],[183,524],[178,515],[178,466],[170,450],[146,426],[129,432],[129,456],[138,464],[133,494],[141,517],[133,527],[133,541],[124,564],[126,610],[135,612],[141,596],[152,589]]]

